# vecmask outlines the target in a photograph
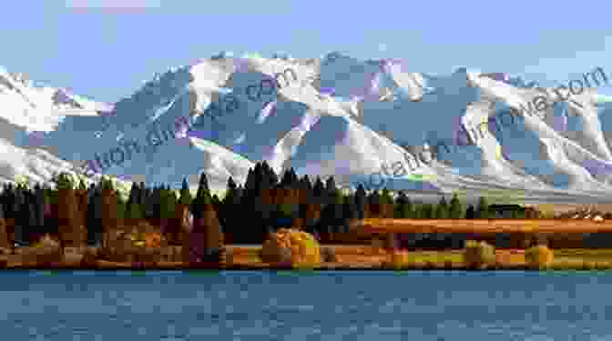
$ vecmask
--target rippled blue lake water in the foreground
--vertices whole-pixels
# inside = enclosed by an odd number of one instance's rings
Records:
[[[2,272],[0,340],[612,340],[612,273]]]

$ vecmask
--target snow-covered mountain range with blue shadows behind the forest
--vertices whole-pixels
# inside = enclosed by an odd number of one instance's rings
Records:
[[[94,178],[178,187],[188,175],[197,186],[204,171],[223,189],[266,160],[277,172],[423,197],[606,200],[610,103],[591,88],[564,99],[504,73],[424,75],[410,61],[336,52],[220,53],[153,75],[113,105],[0,69],[0,176],[46,181],[72,164]]]

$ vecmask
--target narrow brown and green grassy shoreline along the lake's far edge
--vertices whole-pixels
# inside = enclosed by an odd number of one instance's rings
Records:
[[[612,270],[612,249],[553,249],[555,259],[546,268],[536,268],[526,263],[521,249],[495,250],[495,262],[484,268],[470,268],[464,263],[462,250],[399,250],[408,256],[401,263],[393,264],[394,252],[378,246],[323,245],[331,250],[333,259],[327,256],[316,266],[288,266],[267,263],[260,258],[258,245],[226,246],[227,254],[221,263],[189,265],[180,259],[117,262],[100,257],[86,259],[80,252],[66,253],[55,261],[33,259],[26,255],[0,256],[0,272],[4,271],[584,271]],[[330,251],[327,251],[328,253]],[[405,253],[404,253],[405,252]],[[331,255],[326,253],[326,255]],[[401,258],[403,259],[403,256]]]

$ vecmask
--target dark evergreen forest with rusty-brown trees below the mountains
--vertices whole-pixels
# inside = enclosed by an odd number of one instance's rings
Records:
[[[87,187],[59,175],[55,183],[56,188],[2,187],[0,246],[27,246],[47,234],[62,246],[100,246],[109,230],[145,222],[158,227],[169,245],[184,243],[188,232],[201,236],[203,252],[210,254],[222,243],[261,244],[280,227],[298,227],[333,242],[354,219],[487,216],[484,198],[466,208],[456,196],[433,205],[413,202],[403,192],[393,197],[386,188],[366,193],[360,185],[347,194],[333,176],[300,177],[292,168],[279,176],[266,162],[251,168],[244,184],[230,177],[222,198],[210,194],[205,174],[195,196],[186,180],[179,196],[164,184],[134,183],[125,199],[108,179]]]

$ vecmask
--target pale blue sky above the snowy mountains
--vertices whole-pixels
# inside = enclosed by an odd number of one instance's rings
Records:
[[[223,50],[340,51],[402,58],[416,72],[466,66],[563,83],[595,66],[612,72],[605,1],[20,0],[1,8],[0,65],[110,102],[169,66]]]

